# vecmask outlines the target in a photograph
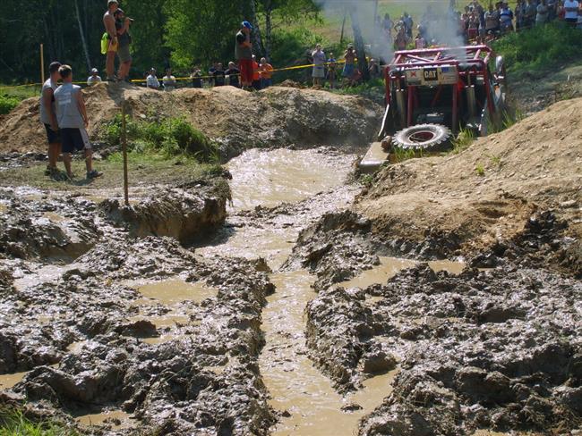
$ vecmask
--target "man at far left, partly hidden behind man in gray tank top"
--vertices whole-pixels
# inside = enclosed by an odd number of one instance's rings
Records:
[[[61,63],[54,62],[48,66],[50,76],[42,85],[40,94],[40,122],[45,126],[48,141],[48,166],[47,176],[60,179],[60,172],[56,169],[56,159],[61,153],[61,135],[56,122],[55,91],[58,88],[56,82],[61,79],[58,69]]]

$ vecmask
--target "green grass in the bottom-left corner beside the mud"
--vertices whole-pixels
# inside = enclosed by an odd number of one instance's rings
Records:
[[[62,423],[35,423],[14,409],[0,410],[0,436],[77,436],[79,433]]]

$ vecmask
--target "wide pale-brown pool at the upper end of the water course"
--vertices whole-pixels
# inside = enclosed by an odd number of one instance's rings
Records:
[[[352,158],[316,150],[245,151],[227,165],[235,209],[295,203],[343,183]]]

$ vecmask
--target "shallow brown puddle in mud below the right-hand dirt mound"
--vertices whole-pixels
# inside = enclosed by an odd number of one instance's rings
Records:
[[[409,259],[399,259],[397,257],[380,257],[380,264],[374,266],[371,270],[365,270],[357,277],[338,283],[338,286],[343,288],[360,288],[365,289],[373,284],[386,283],[390,278],[394,277],[398,272],[411,268],[418,264],[417,261]],[[434,261],[429,262],[429,266],[432,270],[447,271],[451,274],[460,274],[465,268],[465,264],[462,262],[452,262],[452,261]]]

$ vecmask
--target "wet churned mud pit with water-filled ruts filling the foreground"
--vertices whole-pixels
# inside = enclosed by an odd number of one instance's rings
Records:
[[[4,190],[2,401],[97,434],[578,434],[578,199],[558,214],[509,197],[518,231],[464,249],[441,222],[372,213],[408,179],[423,189],[404,176],[425,161],[353,206],[354,161],[250,150],[227,165],[228,206],[192,187],[129,212]],[[32,222],[51,238],[27,238]]]

